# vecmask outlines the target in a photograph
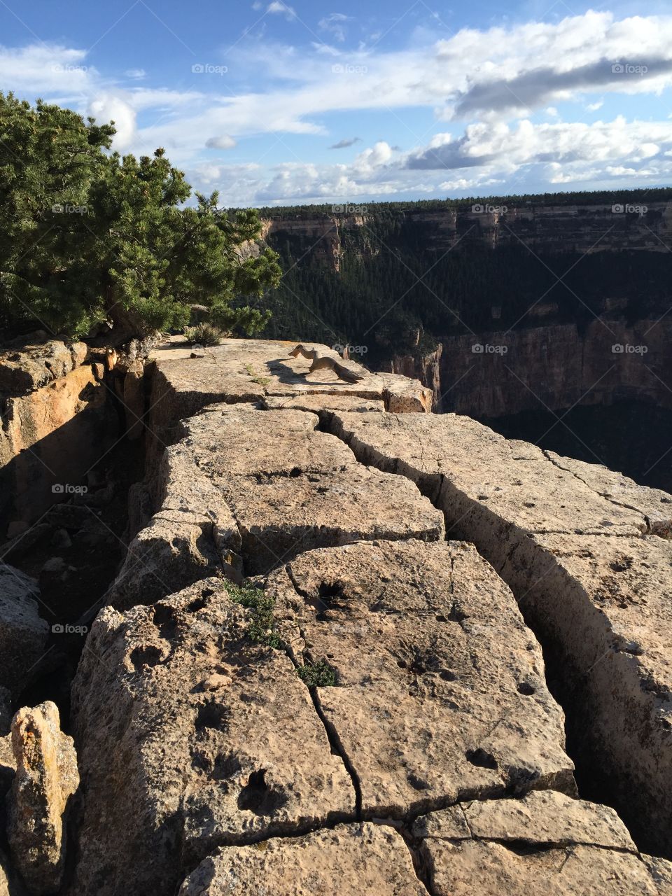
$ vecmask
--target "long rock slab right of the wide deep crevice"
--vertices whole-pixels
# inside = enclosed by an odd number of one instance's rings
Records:
[[[470,418],[335,414],[360,461],[418,483],[478,547],[554,659],[573,729],[650,848],[672,835],[672,545],[643,510]],[[601,475],[601,474],[600,474]],[[596,490],[597,489],[597,490]],[[669,496],[668,496],[669,497]],[[672,497],[670,497],[672,500]],[[642,504],[642,507],[644,504]]]

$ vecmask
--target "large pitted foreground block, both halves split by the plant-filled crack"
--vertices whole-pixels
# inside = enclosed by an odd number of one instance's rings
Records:
[[[168,892],[220,846],[360,812],[573,792],[538,644],[473,547],[410,539],[297,557],[258,591],[276,647],[254,643],[254,610],[230,593],[209,579],[94,624],[73,686],[73,893]],[[321,661],[335,686],[309,688],[298,670]]]

